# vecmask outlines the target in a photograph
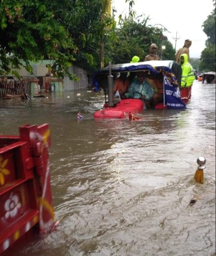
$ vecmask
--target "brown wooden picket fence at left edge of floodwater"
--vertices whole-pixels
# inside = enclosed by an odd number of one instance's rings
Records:
[[[27,93],[31,95],[31,83],[30,82],[9,82],[0,83],[0,96],[5,94],[10,95],[21,95],[22,93]]]

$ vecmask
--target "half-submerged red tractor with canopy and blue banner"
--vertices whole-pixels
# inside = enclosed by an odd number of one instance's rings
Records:
[[[105,92],[105,105],[103,109],[94,113],[94,118],[120,118],[123,119],[131,114],[143,112],[145,103],[142,99],[137,99],[134,94],[126,99],[113,96],[113,76],[118,73],[140,72],[147,73],[149,81],[157,85],[157,93],[162,95],[162,101],[154,107],[164,108],[185,108],[191,96],[191,87],[179,88],[181,85],[181,66],[179,63],[169,60],[145,61],[138,63],[124,63],[107,66],[95,74],[95,79]],[[135,76],[136,74],[134,74]],[[108,95],[108,100],[107,100]],[[141,95],[142,96],[142,95]],[[141,98],[141,97],[140,97]]]

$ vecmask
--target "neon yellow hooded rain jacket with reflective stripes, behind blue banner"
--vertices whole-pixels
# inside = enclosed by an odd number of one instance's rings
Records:
[[[184,63],[181,65],[181,87],[190,87],[193,85],[193,81],[195,80],[193,67],[188,62],[188,56],[186,53],[181,54],[181,56],[185,59]]]

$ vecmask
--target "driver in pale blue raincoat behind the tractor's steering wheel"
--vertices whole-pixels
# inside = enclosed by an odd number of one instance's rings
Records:
[[[138,72],[137,80],[131,83],[128,92],[124,94],[126,98],[143,99],[146,107],[151,107],[151,100],[154,90],[148,82],[146,82],[146,72]]]

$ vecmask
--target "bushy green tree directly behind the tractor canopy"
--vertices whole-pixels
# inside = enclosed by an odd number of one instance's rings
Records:
[[[116,41],[107,42],[106,55],[109,55],[113,63],[128,63],[134,55],[139,56],[141,61],[149,54],[151,43],[158,46],[158,54],[161,54],[162,45],[166,46],[163,59],[174,59],[175,50],[167,40],[161,29],[148,26],[149,17],[141,22],[127,19],[120,28],[116,29]]]

